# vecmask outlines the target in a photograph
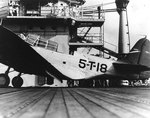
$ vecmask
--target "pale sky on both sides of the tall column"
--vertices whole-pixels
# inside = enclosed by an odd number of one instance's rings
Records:
[[[85,6],[105,4],[104,9],[116,8],[115,0],[86,0]],[[131,47],[140,39],[147,36],[150,39],[150,0],[130,0],[127,6]],[[118,45],[119,14],[105,14],[105,41]]]

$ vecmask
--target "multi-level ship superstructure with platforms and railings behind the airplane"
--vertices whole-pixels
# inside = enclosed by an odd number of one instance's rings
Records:
[[[66,54],[74,54],[80,47],[96,48],[116,56],[104,47],[105,21],[102,5],[83,7],[84,0],[7,0],[8,14],[1,25],[7,27],[32,46],[38,46]],[[6,1],[4,2],[6,3]],[[4,7],[5,8],[5,7]],[[4,9],[1,8],[1,9]],[[8,11],[9,12],[4,12]],[[109,10],[108,10],[109,11]],[[5,15],[4,15],[5,16]],[[93,33],[92,29],[97,30]],[[37,77],[38,84],[48,84]]]

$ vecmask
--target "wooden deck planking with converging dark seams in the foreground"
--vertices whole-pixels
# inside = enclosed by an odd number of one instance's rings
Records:
[[[0,118],[149,118],[150,88],[1,88]]]

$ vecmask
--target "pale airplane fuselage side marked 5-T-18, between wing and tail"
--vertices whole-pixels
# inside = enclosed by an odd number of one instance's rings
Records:
[[[52,64],[58,71],[71,79],[88,79],[104,74],[114,61],[75,53],[62,54],[44,48],[33,47],[43,58]]]

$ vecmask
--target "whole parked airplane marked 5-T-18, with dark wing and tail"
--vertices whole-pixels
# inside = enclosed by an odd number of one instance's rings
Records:
[[[0,75],[0,86],[10,83],[9,70],[14,68],[18,76],[12,80],[14,87],[21,87],[21,73],[35,74],[60,80],[109,80],[116,85],[120,80],[146,80],[150,70],[150,41],[140,39],[122,59],[112,61],[90,55],[67,55],[38,46],[30,46],[18,35],[0,26],[0,62],[8,70]]]

